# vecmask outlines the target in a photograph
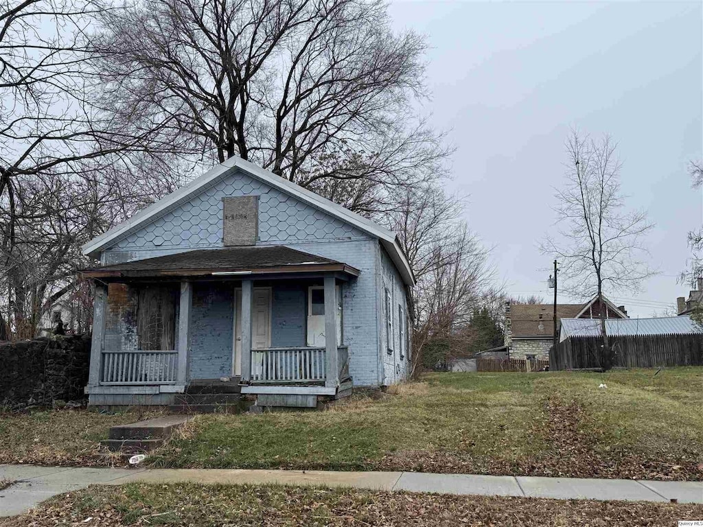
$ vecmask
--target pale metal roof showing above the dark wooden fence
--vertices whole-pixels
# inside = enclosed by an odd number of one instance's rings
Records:
[[[662,318],[609,318],[605,332],[612,337],[636,335],[698,334],[703,327],[688,315]],[[600,320],[588,318],[562,318],[562,337],[599,337]]]

